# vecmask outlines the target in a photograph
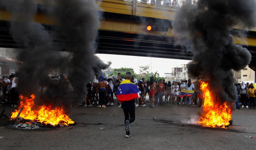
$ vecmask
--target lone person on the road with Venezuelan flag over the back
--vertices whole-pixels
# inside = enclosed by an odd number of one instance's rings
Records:
[[[134,99],[140,98],[139,89],[131,82],[131,72],[126,72],[125,80],[120,83],[117,91],[117,99],[122,104],[125,117],[125,137],[130,137],[130,124],[135,120]]]

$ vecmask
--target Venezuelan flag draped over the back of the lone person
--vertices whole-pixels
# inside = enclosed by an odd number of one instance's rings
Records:
[[[139,89],[130,80],[124,80],[120,83],[117,91],[117,99],[119,102],[130,101],[139,98]]]

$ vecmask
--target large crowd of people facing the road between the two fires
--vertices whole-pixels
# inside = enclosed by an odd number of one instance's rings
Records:
[[[94,76],[94,80],[87,84],[88,94],[85,98],[84,107],[92,107],[93,104],[97,104],[97,107],[106,107],[114,105],[114,96],[117,96],[117,91],[120,83],[125,80],[120,77],[120,73],[116,76],[109,77],[108,79],[103,76],[99,80]],[[145,78],[137,79],[134,75],[131,78],[131,82],[134,83],[140,91],[140,98],[134,100],[135,107],[145,107],[146,95],[149,95],[150,105],[154,108],[157,105],[168,104],[184,104],[184,107],[188,106],[202,106],[203,99],[200,91],[196,90],[197,82],[192,83],[191,79],[180,82],[170,81],[165,82],[164,79],[156,81],[155,76],[150,77],[149,81],[145,81]],[[191,96],[181,96],[181,90],[195,90]],[[121,103],[118,102],[118,107],[121,107]]]

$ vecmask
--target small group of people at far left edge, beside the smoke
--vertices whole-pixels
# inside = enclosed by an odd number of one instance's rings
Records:
[[[2,101],[0,104],[10,103],[11,107],[17,107],[19,94],[17,89],[17,77],[15,74],[2,76],[0,79]]]

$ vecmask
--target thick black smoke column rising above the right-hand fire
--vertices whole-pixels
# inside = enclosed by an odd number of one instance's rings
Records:
[[[207,80],[210,90],[222,101],[237,99],[233,70],[250,63],[246,48],[234,44],[230,28],[255,26],[255,0],[198,0],[197,8],[187,6],[178,11],[174,28],[188,32],[194,48],[187,64],[191,78]]]

